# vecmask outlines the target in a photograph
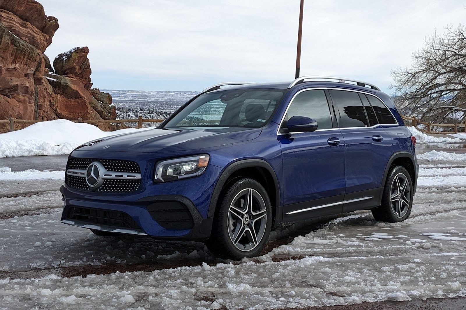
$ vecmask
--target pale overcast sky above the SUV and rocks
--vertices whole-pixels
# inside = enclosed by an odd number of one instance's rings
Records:
[[[46,54],[88,46],[94,87],[202,90],[290,81],[299,0],[39,0],[60,28]],[[371,82],[391,93],[426,35],[466,17],[466,0],[305,0],[301,75]]]

